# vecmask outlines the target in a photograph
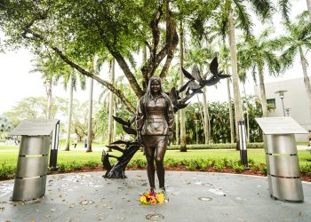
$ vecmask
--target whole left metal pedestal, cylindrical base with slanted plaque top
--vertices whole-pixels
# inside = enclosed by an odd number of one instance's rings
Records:
[[[14,179],[13,201],[30,201],[45,194],[51,133],[59,120],[23,121],[10,132],[22,136]]]

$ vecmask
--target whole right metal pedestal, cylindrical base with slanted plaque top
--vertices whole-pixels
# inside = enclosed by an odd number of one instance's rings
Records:
[[[264,132],[267,181],[272,198],[303,202],[299,158],[294,134],[307,131],[291,117],[256,118]]]

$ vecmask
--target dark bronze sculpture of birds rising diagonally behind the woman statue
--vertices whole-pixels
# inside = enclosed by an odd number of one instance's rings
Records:
[[[218,70],[219,64],[218,59],[215,57],[211,61],[210,72],[211,76],[206,79],[206,76],[202,76],[197,66],[194,66],[191,74],[187,72],[186,69],[182,68],[183,74],[187,77],[188,81],[183,86],[181,86],[178,90],[175,87],[171,88],[171,91],[166,93],[171,99],[171,104],[173,107],[174,113],[176,113],[179,109],[187,107],[189,103],[187,101],[195,96],[196,93],[202,93],[202,89],[205,86],[211,86],[223,78],[227,78],[230,75],[222,75],[222,72]],[[186,97],[180,98],[179,93],[182,91],[186,91]],[[122,152],[122,155],[115,156],[109,155],[105,150],[102,152],[101,161],[103,163],[103,168],[106,171],[106,174],[103,176],[104,178],[126,178],[125,176],[125,168],[127,164],[131,161],[133,155],[140,149],[140,142],[137,139],[138,132],[134,127],[132,127],[135,122],[135,116],[132,117],[131,120],[123,120],[120,117],[114,116],[114,119],[117,123],[122,124],[123,129],[126,133],[131,134],[136,137],[133,141],[124,141],[117,140],[111,143],[109,148],[118,150]],[[119,147],[118,145],[124,146]],[[110,158],[116,158],[117,162],[114,165],[111,165],[109,162]]]

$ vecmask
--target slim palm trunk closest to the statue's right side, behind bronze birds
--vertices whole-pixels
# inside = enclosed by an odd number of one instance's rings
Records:
[[[184,65],[184,30],[182,20],[180,20],[179,27],[179,86],[184,84],[184,74],[182,73],[181,67]],[[181,93],[181,98],[185,97],[185,93]],[[180,152],[187,152],[186,143],[186,119],[185,109],[179,110],[180,113]]]

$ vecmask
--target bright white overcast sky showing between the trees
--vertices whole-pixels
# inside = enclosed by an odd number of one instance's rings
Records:
[[[305,0],[293,0],[292,1],[292,17],[296,14],[307,9],[307,3]],[[274,24],[277,34],[281,34],[283,29],[279,24],[279,16],[275,16]],[[254,21],[258,23],[258,21]],[[255,33],[259,33],[261,30],[260,26],[257,25],[254,28]],[[38,97],[45,96],[45,89],[41,75],[38,73],[29,73],[33,68],[30,60],[32,59],[31,53],[27,50],[19,50],[18,52],[7,52],[4,54],[0,53],[0,115],[10,110],[17,101],[26,97]],[[307,56],[307,59],[310,61],[310,56]],[[103,73],[107,72],[104,70]],[[121,72],[118,70],[117,72]],[[310,74],[310,69],[308,68],[308,73]],[[298,78],[302,77],[302,71],[297,58],[294,66],[289,69],[282,79],[288,78]],[[266,82],[274,82],[280,80],[280,78],[275,79],[274,77],[266,75]],[[253,84],[251,81],[248,81],[246,84],[247,94],[253,94]],[[88,86],[88,84],[87,84]],[[242,89],[242,87],[241,87]],[[94,99],[99,99],[101,91],[101,86],[99,83],[94,82]],[[222,80],[215,87],[209,87],[207,89],[208,97],[210,101],[225,101],[227,100],[227,85],[226,81]],[[68,92],[64,90],[64,87],[61,85],[54,86],[53,96],[60,96],[63,98],[68,98]],[[79,88],[75,92],[75,99],[85,101],[88,99],[88,92],[81,91]]]

